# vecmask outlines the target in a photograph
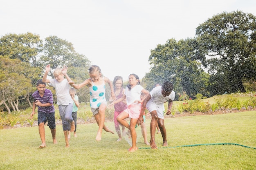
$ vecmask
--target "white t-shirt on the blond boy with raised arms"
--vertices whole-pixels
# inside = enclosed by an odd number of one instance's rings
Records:
[[[58,82],[56,79],[50,79],[50,83],[55,88],[58,105],[73,104],[70,96],[70,84],[67,82],[67,79],[63,79],[61,82]]]

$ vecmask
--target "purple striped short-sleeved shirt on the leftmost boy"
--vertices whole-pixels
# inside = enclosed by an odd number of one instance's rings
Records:
[[[53,104],[53,97],[52,97],[52,91],[50,91],[49,89],[45,89],[45,93],[43,95],[43,97],[41,97],[39,95],[39,92],[38,91],[35,91],[33,94],[32,94],[32,97],[34,99],[34,102],[36,100],[40,101],[42,104],[44,103],[50,103],[50,104]],[[52,113],[54,112],[54,105],[52,106],[47,106],[47,107],[41,107],[41,106],[37,106],[38,107],[38,111],[41,111],[41,112],[45,112],[45,113]]]

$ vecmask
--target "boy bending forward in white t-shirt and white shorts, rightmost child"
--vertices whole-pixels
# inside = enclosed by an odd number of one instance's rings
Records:
[[[175,92],[173,91],[173,84],[169,81],[164,82],[162,86],[157,86],[150,91],[150,93],[146,96],[142,107],[139,119],[137,124],[141,124],[143,122],[143,113],[145,108],[151,114],[151,122],[150,122],[150,146],[152,149],[157,149],[155,144],[155,130],[158,124],[161,134],[163,137],[163,146],[168,146],[167,138],[166,138],[166,129],[164,127],[164,103],[168,101],[168,109],[166,111],[166,115],[171,114],[171,107],[173,106],[173,100],[175,97]]]

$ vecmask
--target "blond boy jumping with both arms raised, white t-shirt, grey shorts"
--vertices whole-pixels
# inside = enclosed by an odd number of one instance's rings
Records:
[[[43,82],[50,83],[50,85],[52,85],[56,90],[58,110],[61,116],[62,128],[67,148],[70,147],[67,137],[68,130],[70,129],[71,132],[74,132],[75,130],[75,123],[72,118],[73,100],[70,96],[70,84],[68,83],[71,81],[71,79],[67,75],[67,66],[63,66],[63,68],[56,68],[53,72],[54,79],[47,79],[50,69],[50,64],[48,64],[45,67]]]

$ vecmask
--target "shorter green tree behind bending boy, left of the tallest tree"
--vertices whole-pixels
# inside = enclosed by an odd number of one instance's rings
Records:
[[[156,83],[169,80],[173,82],[176,94],[186,91],[191,97],[197,93],[209,96],[206,90],[209,76],[200,68],[201,63],[195,60],[194,42],[194,39],[178,42],[170,39],[151,50],[150,72],[143,79],[146,88],[151,90]]]

